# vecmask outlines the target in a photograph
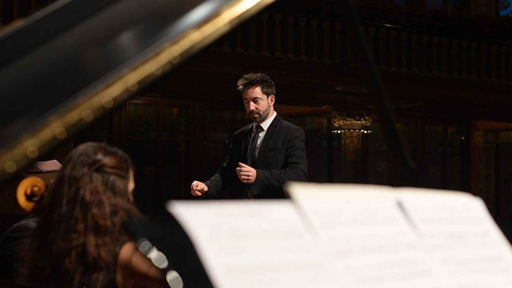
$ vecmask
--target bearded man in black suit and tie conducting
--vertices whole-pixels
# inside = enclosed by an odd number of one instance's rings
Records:
[[[306,181],[308,161],[304,130],[274,112],[275,86],[265,74],[247,74],[237,83],[253,123],[234,132],[228,156],[205,183],[194,181],[194,196],[217,196],[230,189],[231,198],[283,198],[286,181]]]

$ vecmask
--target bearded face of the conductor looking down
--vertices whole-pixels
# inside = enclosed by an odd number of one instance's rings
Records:
[[[267,120],[270,112],[274,111],[274,95],[267,97],[261,92],[261,87],[252,87],[244,90],[242,97],[247,114],[257,124]]]

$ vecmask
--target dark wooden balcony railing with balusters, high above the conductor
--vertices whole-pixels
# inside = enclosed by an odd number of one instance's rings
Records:
[[[267,12],[224,36],[212,49],[350,67],[360,63],[361,55],[348,28],[330,18]],[[359,31],[367,37],[381,70],[512,82],[512,42],[369,22]]]

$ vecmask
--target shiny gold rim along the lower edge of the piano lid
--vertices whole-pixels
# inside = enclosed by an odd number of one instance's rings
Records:
[[[9,148],[0,151],[0,180],[33,162],[79,129],[106,112],[108,108],[126,101],[139,87],[166,73],[177,64],[227,33],[241,21],[254,15],[275,0],[236,0],[216,16],[177,39],[169,40],[163,48],[143,63],[123,74],[101,90],[83,97],[74,107],[54,115],[40,129],[24,135]]]

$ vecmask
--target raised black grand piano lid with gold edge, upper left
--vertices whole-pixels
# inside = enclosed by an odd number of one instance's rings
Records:
[[[0,34],[0,180],[274,0],[60,0]]]

